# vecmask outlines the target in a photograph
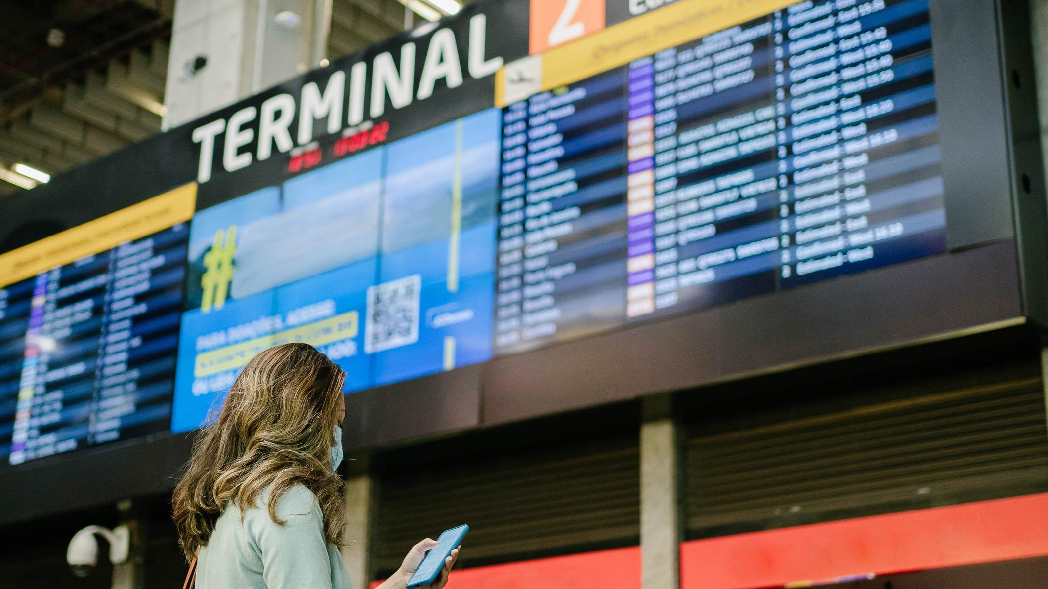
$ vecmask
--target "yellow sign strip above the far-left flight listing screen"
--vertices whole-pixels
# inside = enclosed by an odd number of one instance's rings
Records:
[[[196,209],[196,183],[154,196],[83,225],[0,255],[0,286],[99,254],[188,221]]]

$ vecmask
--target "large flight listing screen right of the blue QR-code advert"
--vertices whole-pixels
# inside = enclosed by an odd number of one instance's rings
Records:
[[[946,246],[927,0],[801,2],[503,116],[497,354]]]

